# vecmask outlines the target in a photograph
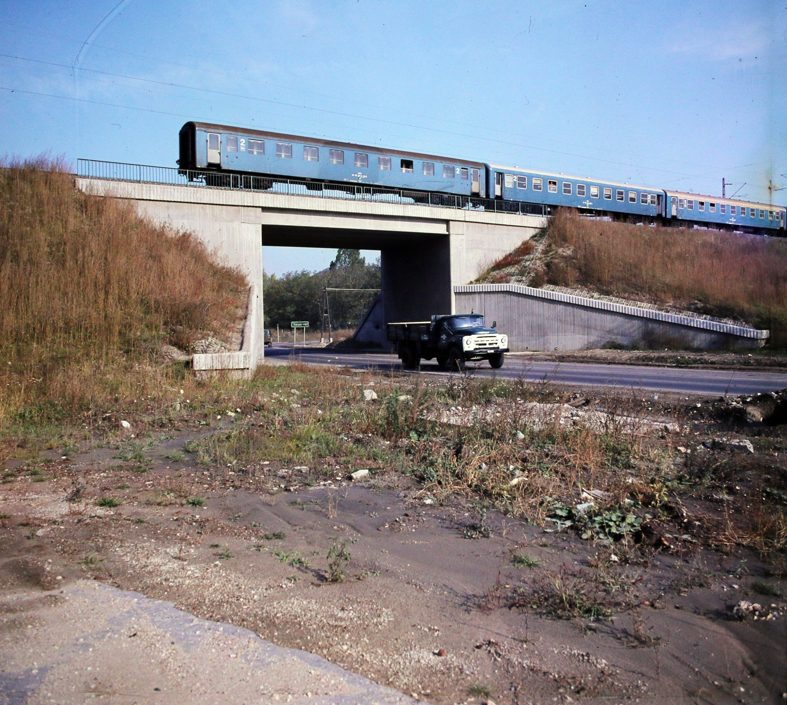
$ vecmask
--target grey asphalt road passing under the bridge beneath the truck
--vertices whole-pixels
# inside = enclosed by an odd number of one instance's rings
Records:
[[[305,363],[314,365],[340,365],[353,369],[376,367],[386,371],[401,369],[397,356],[381,352],[342,352],[308,347],[294,350],[291,344],[275,344],[273,348],[265,349],[265,357],[271,362],[283,363],[293,355]],[[493,371],[486,362],[468,363],[467,369],[474,370],[476,375],[484,377],[495,374],[499,378],[515,379],[521,375],[527,382],[547,381],[581,386],[631,387],[709,396],[773,392],[787,387],[787,375],[774,372],[537,362],[528,355],[506,356],[501,370]],[[422,361],[421,373],[445,376],[451,374],[441,370],[434,360]]]

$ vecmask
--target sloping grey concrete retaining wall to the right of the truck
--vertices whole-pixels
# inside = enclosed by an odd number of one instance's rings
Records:
[[[454,287],[456,312],[497,320],[512,350],[626,348],[759,348],[767,330],[515,284]]]

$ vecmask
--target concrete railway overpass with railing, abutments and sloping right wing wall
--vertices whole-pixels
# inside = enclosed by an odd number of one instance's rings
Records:
[[[386,322],[471,308],[497,319],[512,349],[521,351],[608,344],[759,347],[768,338],[767,330],[736,321],[632,301],[508,284],[467,286],[483,264],[544,227],[541,206],[284,179],[257,178],[267,188],[253,190],[255,182],[243,175],[198,177],[202,183],[173,168],[86,160],[79,161],[76,177],[87,193],[131,202],[156,223],[193,232],[220,259],[246,272],[252,286],[242,350],[195,355],[198,371],[246,374],[263,359],[263,245],[379,249],[382,297],[361,324],[364,341],[384,343]]]

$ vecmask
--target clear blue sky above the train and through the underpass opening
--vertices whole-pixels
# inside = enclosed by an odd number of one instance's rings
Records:
[[[205,120],[787,204],[787,2],[2,0],[0,20],[9,156],[174,166]],[[266,269],[333,254],[267,248]]]

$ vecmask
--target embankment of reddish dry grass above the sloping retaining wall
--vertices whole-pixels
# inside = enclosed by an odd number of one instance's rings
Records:
[[[608,296],[732,317],[787,346],[787,240],[582,218],[561,209],[530,286],[586,287]],[[478,281],[505,282],[534,247],[523,243]],[[514,270],[512,270],[514,268]]]

